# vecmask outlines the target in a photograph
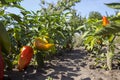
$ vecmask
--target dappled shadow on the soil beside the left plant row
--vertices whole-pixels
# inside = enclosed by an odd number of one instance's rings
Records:
[[[50,62],[46,62],[44,68],[34,68],[29,66],[25,71],[18,72],[17,70],[6,71],[5,75],[11,80],[45,80],[47,77],[52,77],[54,80],[74,80],[78,74],[80,67],[85,67],[87,64],[83,59],[87,53],[81,50],[73,50],[69,53],[63,53],[62,56],[56,57]],[[86,78],[83,80],[90,80]]]

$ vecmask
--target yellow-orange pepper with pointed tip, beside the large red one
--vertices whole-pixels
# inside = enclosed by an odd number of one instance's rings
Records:
[[[45,42],[44,40],[42,40],[40,38],[36,38],[35,42],[34,42],[34,46],[39,50],[47,51],[47,50],[51,49],[54,46],[54,44]]]

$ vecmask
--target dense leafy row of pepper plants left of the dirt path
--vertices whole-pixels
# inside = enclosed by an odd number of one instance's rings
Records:
[[[51,56],[71,50],[72,37],[79,28],[70,21],[73,16],[82,20],[71,9],[79,0],[61,0],[56,5],[41,0],[42,9],[36,12],[23,8],[21,1],[0,1],[0,80],[4,70],[22,71],[29,64],[44,67]],[[19,9],[20,14],[7,12],[9,7]]]

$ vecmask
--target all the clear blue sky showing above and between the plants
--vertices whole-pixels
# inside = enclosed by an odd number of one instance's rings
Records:
[[[45,0],[50,3],[56,3],[58,0]],[[120,2],[120,0],[81,0],[80,3],[77,3],[73,8],[77,10],[77,13],[81,14],[82,16],[86,17],[89,15],[91,11],[98,11],[102,15],[115,14],[114,9],[111,9],[104,5],[104,3],[111,3],[111,2]],[[40,0],[23,0],[21,5],[30,11],[37,11],[40,9]],[[9,12],[19,14],[17,9],[8,9]]]

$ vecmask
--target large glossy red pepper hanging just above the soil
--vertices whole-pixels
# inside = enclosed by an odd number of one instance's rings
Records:
[[[22,69],[26,68],[31,58],[33,57],[33,49],[30,46],[23,46],[20,52],[20,57],[18,60],[18,69],[21,71]]]

